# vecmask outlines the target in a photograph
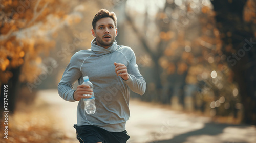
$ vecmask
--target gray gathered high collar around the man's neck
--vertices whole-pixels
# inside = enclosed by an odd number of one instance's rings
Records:
[[[96,37],[92,40],[91,42],[91,49],[94,53],[99,54],[99,55],[105,55],[111,52],[114,52],[117,50],[117,42],[116,40],[114,41],[114,43],[108,47],[107,49],[105,49],[104,47],[98,46],[96,45]]]

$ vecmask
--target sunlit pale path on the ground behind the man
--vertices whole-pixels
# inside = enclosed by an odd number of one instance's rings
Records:
[[[76,123],[78,102],[67,102],[58,96],[56,89],[42,90],[38,97],[45,100],[62,118],[68,140],[76,142],[73,124]],[[256,127],[249,125],[216,124],[207,117],[185,114],[166,107],[130,101],[131,116],[126,130],[131,138],[128,143],[255,143]]]

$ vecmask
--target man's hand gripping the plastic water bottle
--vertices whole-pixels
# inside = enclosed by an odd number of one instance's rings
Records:
[[[78,85],[76,91],[73,94],[74,100],[79,101],[82,98],[91,98],[91,96],[84,96],[84,94],[93,94],[93,90],[90,88],[91,87],[89,85]]]

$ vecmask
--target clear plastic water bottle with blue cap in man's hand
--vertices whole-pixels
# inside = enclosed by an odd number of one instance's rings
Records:
[[[83,83],[82,84],[86,84],[89,85],[93,90],[93,84],[89,81],[88,76],[84,76],[83,77]],[[84,94],[84,96],[91,96],[90,94]],[[96,106],[95,106],[95,98],[94,98],[94,93],[92,94],[91,98],[84,98],[83,99],[83,103],[84,103],[84,110],[86,110],[87,114],[94,114],[96,111]]]

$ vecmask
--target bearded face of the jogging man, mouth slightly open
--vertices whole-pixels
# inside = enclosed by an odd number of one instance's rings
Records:
[[[110,17],[101,18],[96,22],[95,30],[92,29],[92,35],[96,37],[96,44],[98,46],[108,48],[115,41],[117,36],[117,28]]]

